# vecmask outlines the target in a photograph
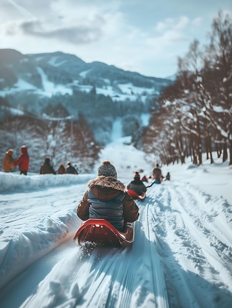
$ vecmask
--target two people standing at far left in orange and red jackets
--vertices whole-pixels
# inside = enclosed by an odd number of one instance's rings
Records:
[[[10,172],[15,166],[19,166],[20,174],[27,175],[29,169],[29,155],[28,148],[26,146],[21,147],[21,154],[19,157],[14,160],[12,157],[14,154],[14,150],[9,149],[5,152],[5,156],[2,160],[2,170],[4,172]]]

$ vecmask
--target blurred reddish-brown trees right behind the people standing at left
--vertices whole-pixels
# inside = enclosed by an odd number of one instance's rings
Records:
[[[60,163],[71,161],[79,173],[92,171],[98,159],[100,146],[85,119],[43,120],[29,116],[11,116],[0,122],[1,157],[5,151],[14,150],[17,158],[22,145],[26,145],[30,156],[30,172],[39,173],[45,156],[49,156],[57,171]],[[17,169],[17,167],[16,167]]]

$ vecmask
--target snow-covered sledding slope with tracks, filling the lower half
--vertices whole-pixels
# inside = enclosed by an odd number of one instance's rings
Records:
[[[101,160],[126,185],[135,171],[152,174],[156,162],[124,142],[102,150],[93,174],[0,172],[1,308],[232,307],[232,167],[221,159],[163,166],[171,181],[137,202],[131,247],[88,251],[72,241]]]

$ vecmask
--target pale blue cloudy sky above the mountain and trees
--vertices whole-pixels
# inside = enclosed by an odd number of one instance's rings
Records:
[[[63,51],[146,76],[176,72],[232,0],[0,0],[0,49]]]

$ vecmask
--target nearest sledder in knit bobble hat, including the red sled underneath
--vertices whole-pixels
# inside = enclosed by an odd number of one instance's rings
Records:
[[[98,177],[89,181],[88,187],[77,208],[77,216],[86,221],[77,230],[75,243],[114,247],[133,243],[138,207],[127,187],[117,180],[116,169],[109,160],[102,161]]]

